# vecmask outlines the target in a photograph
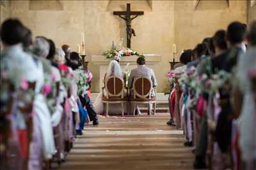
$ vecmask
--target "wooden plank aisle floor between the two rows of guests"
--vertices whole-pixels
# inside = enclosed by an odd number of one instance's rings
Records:
[[[58,170],[192,169],[193,153],[168,117],[100,118],[76,139]],[[55,169],[54,169],[55,170]]]

